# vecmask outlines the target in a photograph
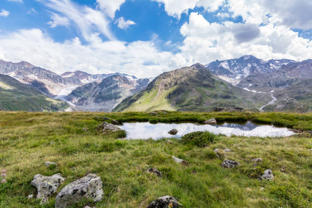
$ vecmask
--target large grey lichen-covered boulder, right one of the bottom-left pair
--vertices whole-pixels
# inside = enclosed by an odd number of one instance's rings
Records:
[[[103,198],[102,181],[96,174],[88,174],[65,186],[56,196],[55,207],[65,208],[82,199],[101,201]]]

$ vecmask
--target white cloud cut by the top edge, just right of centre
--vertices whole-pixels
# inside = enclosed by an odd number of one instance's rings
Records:
[[[222,6],[225,0],[153,0],[165,5],[165,11],[170,16],[180,18],[181,14],[195,7],[203,7],[213,12]]]

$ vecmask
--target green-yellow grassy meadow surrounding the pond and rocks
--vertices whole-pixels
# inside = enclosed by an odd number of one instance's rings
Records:
[[[246,138],[219,136],[210,146],[199,148],[174,144],[166,139],[116,140],[116,135],[101,135],[93,129],[100,122],[96,113],[24,113],[0,112],[0,169],[8,169],[8,183],[0,184],[0,207],[41,207],[29,194],[36,195],[30,181],[37,173],[61,173],[66,182],[94,172],[103,181],[104,198],[100,207],[146,207],[153,199],[173,195],[184,207],[311,207],[312,140],[307,135],[287,138]],[[252,118],[263,122],[312,129],[312,114],[277,113],[177,113],[151,116],[142,113],[101,114],[118,120]],[[88,127],[89,132],[84,132]],[[54,142],[50,144],[50,142]],[[230,148],[227,158],[239,161],[238,168],[224,169],[213,150]],[[170,155],[190,162],[175,164]],[[253,166],[252,158],[263,164]],[[59,166],[50,170],[45,161]],[[149,175],[149,167],[158,168],[162,178]],[[271,168],[273,181],[258,181],[257,172]],[[281,172],[281,168],[285,172]],[[61,188],[62,188],[61,187]],[[261,188],[264,191],[261,191]],[[49,204],[54,207],[55,195]],[[80,204],[76,207],[83,207]]]

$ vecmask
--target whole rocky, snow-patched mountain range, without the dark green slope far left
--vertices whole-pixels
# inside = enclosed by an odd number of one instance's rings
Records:
[[[312,60],[264,61],[249,55],[205,66],[197,63],[164,72],[153,80],[122,73],[74,71],[59,75],[28,62],[3,60],[0,73],[43,96],[84,111],[211,111],[215,107],[243,107],[252,111],[311,112],[312,103]]]

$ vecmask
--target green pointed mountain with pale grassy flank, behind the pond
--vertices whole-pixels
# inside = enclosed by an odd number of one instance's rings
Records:
[[[271,100],[220,80],[203,65],[195,64],[156,77],[147,88],[124,99],[114,111],[211,111],[215,107],[257,110]]]

